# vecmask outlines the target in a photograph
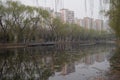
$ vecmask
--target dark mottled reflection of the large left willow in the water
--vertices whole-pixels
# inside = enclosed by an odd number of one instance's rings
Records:
[[[3,53],[7,55],[0,54],[0,79],[47,80],[53,74],[51,67],[41,62],[42,56],[36,54],[33,56],[28,53],[28,51],[15,50]]]

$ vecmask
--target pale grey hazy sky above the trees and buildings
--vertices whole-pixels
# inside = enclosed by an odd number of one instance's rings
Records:
[[[19,0],[24,4],[33,5],[33,6],[44,6],[55,8],[55,0]],[[58,11],[60,8],[67,8],[75,12],[75,17],[83,18],[86,16],[92,18],[103,18],[100,13],[100,2],[99,0],[57,0]],[[86,5],[86,6],[85,6]]]

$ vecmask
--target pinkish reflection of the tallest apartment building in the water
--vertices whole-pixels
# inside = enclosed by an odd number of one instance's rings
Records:
[[[62,68],[61,74],[67,75],[69,73],[75,72],[75,63],[65,64]]]

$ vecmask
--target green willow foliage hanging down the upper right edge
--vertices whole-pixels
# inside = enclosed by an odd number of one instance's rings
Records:
[[[120,0],[110,0],[110,10],[108,11],[110,27],[120,39]]]

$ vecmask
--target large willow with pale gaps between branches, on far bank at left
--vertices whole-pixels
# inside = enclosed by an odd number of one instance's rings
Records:
[[[43,20],[47,18],[49,13],[42,8],[17,1],[0,2],[0,34],[3,33],[0,37],[3,36],[3,41],[16,43],[35,40]]]

